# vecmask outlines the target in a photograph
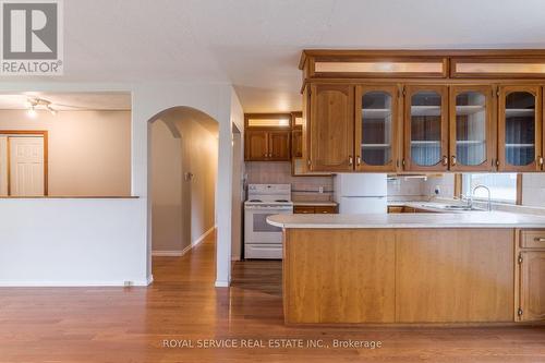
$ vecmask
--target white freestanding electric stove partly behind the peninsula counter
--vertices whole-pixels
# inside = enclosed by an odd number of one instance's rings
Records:
[[[282,229],[267,217],[292,214],[290,184],[250,184],[244,203],[244,258],[282,258]]]

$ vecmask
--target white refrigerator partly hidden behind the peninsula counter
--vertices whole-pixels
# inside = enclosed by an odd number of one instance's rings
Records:
[[[335,176],[335,202],[339,214],[387,213],[387,174],[340,173]]]

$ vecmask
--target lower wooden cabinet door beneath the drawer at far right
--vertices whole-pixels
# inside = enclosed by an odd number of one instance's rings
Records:
[[[545,319],[545,251],[521,252],[520,308],[522,322]]]

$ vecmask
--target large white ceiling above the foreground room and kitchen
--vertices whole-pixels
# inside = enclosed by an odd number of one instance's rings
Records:
[[[56,81],[229,82],[246,112],[290,111],[304,48],[545,48],[543,14],[543,0],[64,1]]]

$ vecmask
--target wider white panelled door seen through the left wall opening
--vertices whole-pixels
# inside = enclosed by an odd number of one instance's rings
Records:
[[[43,196],[44,137],[10,137],[10,194]]]

